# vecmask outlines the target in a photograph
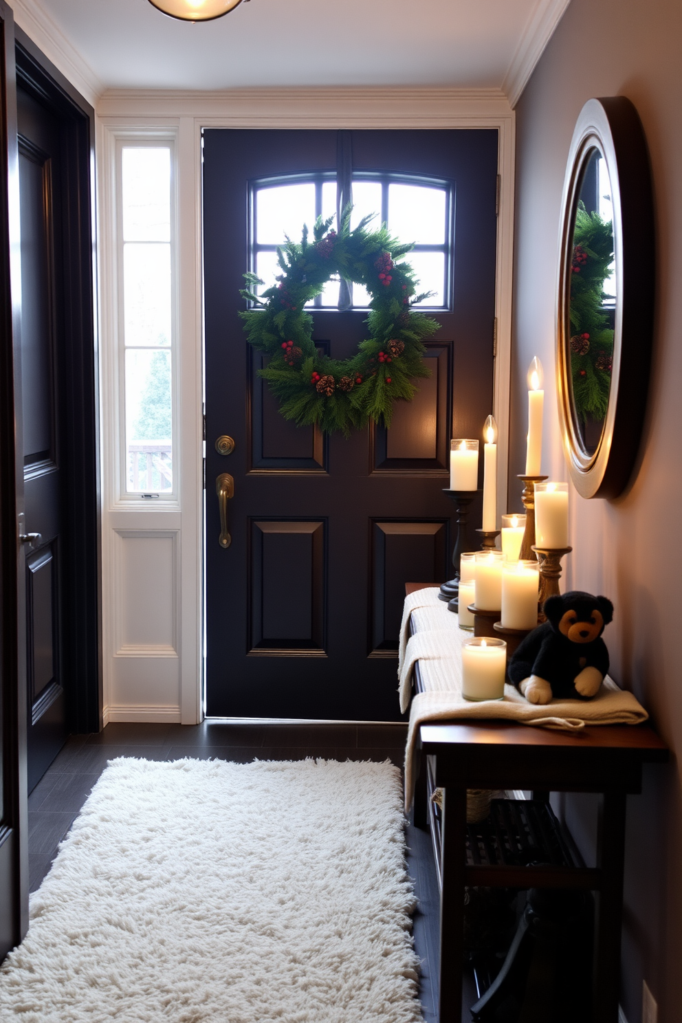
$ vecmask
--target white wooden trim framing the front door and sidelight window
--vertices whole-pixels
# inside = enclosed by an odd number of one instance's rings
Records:
[[[182,721],[192,724],[203,715],[203,317],[201,231],[201,131],[203,128],[279,129],[496,129],[498,148],[498,231],[495,284],[497,341],[493,414],[499,427],[498,514],[507,510],[507,462],[511,366],[511,283],[514,201],[514,112],[498,89],[342,88],[243,89],[232,92],[111,90],[97,103],[99,125],[99,208],[101,211],[100,338],[103,437],[118,436],[120,397],[111,367],[118,359],[116,283],[112,266],[111,189],[117,134],[173,132],[177,139],[178,323],[181,376],[176,394],[180,483],[177,508],[124,509],[113,499],[120,475],[111,445],[102,450],[103,593],[104,593],[104,721]],[[107,498],[106,494],[111,495]],[[178,515],[179,513],[179,515]],[[178,637],[177,691],[160,699],[158,688],[140,692],[135,706],[117,704],[122,672],[127,670],[116,649],[115,630],[107,623],[125,599],[125,580],[117,554],[116,534],[135,529],[152,542],[164,529],[177,536],[174,616]],[[150,635],[154,623],[149,622]],[[153,675],[153,644],[147,661]],[[130,663],[130,662],[129,662]],[[161,667],[161,665],[160,665]],[[134,666],[130,667],[129,691]],[[139,692],[139,691],[138,691]]]

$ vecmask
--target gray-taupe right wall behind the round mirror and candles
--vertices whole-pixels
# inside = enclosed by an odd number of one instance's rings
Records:
[[[653,172],[658,252],[653,369],[641,463],[617,501],[571,496],[567,587],[616,605],[606,631],[611,673],[631,687],[674,754],[682,750],[682,4],[572,0],[517,106],[514,358],[510,479],[524,469],[526,371],[545,367],[543,471],[567,478],[552,393],[561,188],[576,118],[591,96],[628,96]],[[510,484],[509,507],[520,508]],[[588,858],[592,797],[562,809]],[[641,1019],[642,978],[660,1023],[682,1020],[680,770],[651,767],[629,800],[623,1007]]]

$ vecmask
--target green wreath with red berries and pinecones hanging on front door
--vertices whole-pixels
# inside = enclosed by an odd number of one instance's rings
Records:
[[[259,308],[239,314],[249,344],[269,356],[259,374],[279,400],[282,415],[299,426],[318,424],[325,433],[346,436],[369,419],[391,425],[394,401],[409,401],[417,390],[412,381],[429,375],[422,361],[423,341],[439,328],[436,320],[411,308],[427,298],[415,294],[411,266],[397,262],[412,246],[400,244],[385,224],[368,230],[372,217],[352,231],[350,218],[348,209],[338,234],[330,217],[318,218],[312,240],[305,225],[301,243],[287,238],[277,250],[278,283],[262,297],[255,287],[263,281],[245,273],[249,286],[240,294]],[[335,275],[364,284],[371,296],[366,320],[370,337],[345,360],[318,351],[313,318],[304,308]]]

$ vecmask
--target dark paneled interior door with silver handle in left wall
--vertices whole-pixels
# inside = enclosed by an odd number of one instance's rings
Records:
[[[61,670],[62,418],[58,333],[62,295],[60,132],[55,117],[17,90],[21,231],[21,421],[27,543],[29,791],[67,735]],[[56,202],[55,202],[56,197]]]

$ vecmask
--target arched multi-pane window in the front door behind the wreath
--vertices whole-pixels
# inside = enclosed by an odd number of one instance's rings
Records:
[[[368,214],[374,223],[388,223],[401,241],[414,242],[407,259],[418,277],[419,292],[430,296],[420,308],[449,308],[452,297],[452,187],[446,181],[397,175],[356,173],[352,179],[353,214],[356,227]],[[252,268],[263,280],[262,294],[275,283],[280,269],[277,246],[288,236],[299,241],[304,223],[312,226],[336,212],[335,175],[305,178],[271,178],[255,182],[251,195]],[[338,281],[329,281],[322,295],[309,303],[313,308],[333,309],[338,304]],[[361,284],[353,285],[353,307],[366,309],[369,295]]]

